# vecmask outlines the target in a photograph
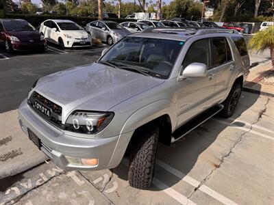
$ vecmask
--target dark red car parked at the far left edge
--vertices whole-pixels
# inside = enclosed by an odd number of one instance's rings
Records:
[[[44,36],[23,19],[0,19],[0,44],[8,53],[47,49]]]

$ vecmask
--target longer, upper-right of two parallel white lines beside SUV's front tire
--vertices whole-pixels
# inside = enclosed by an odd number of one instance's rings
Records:
[[[193,187],[198,187],[200,182],[195,180],[194,178],[191,178],[190,176],[187,176],[186,174],[180,172],[179,170],[171,167],[170,165],[164,163],[163,161],[160,161],[159,159],[156,159],[156,164],[162,167],[163,169],[166,169],[166,171],[170,172],[174,176],[177,176],[177,178],[181,178],[185,182],[188,182],[188,184],[191,184]],[[218,200],[219,202],[226,204],[226,205],[238,205],[232,200],[229,200],[227,197],[221,195],[220,193],[214,191],[213,189],[210,189],[210,187],[207,187],[206,185],[202,184],[201,187],[199,187],[200,191],[203,191],[204,193],[210,195],[215,200]]]

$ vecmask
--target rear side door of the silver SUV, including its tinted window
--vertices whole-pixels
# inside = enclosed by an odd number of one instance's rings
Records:
[[[235,61],[232,57],[231,46],[225,37],[210,38],[212,69],[216,70],[214,96],[223,98],[227,94],[232,76],[235,74]]]

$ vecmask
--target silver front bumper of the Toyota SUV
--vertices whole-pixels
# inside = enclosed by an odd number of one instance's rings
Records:
[[[121,137],[119,135],[103,139],[87,139],[66,135],[62,130],[55,128],[34,113],[27,105],[27,100],[21,103],[18,114],[18,120],[23,131],[27,134],[27,128],[31,130],[40,139],[42,152],[47,154],[55,165],[64,170],[112,168],[119,165],[123,158],[123,152],[119,148],[116,149],[119,146],[119,137]],[[75,165],[69,163],[66,156],[80,159],[98,159],[98,163],[95,166]]]

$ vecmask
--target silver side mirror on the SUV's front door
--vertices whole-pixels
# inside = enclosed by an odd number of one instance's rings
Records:
[[[192,63],[186,66],[179,79],[182,80],[187,78],[201,78],[206,77],[207,74],[208,66],[206,66],[206,64]]]

